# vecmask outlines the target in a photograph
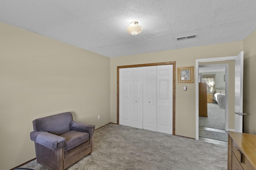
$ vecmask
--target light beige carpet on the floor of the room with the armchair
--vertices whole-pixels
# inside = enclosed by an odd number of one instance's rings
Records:
[[[94,152],[67,170],[225,170],[228,148],[180,136],[108,124],[94,132]],[[47,170],[36,162],[22,166]]]

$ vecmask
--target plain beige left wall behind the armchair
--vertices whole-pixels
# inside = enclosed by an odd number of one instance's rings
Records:
[[[71,111],[96,128],[110,122],[110,58],[4,23],[0,37],[1,170],[36,157],[36,118]]]

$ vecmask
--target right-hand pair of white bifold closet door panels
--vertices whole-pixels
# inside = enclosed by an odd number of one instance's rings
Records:
[[[172,134],[173,65],[143,67],[143,129]]]

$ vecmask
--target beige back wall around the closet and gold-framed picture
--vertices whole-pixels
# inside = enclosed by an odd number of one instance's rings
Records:
[[[116,123],[117,114],[117,66],[176,61],[176,67],[195,67],[196,59],[236,56],[240,51],[243,51],[242,41],[110,58],[111,122]],[[187,86],[188,91],[183,91],[184,85]],[[178,84],[176,82],[176,135],[196,138],[195,89],[195,83]]]

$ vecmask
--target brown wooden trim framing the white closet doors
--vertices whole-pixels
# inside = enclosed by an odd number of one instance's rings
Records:
[[[159,66],[159,65],[173,65],[172,74],[172,135],[175,135],[175,83],[176,83],[176,61],[162,62],[162,63],[148,63],[148,64],[135,64],[117,66],[117,108],[116,108],[116,124],[119,125],[119,69],[120,68],[132,68],[132,67],[143,67],[143,66]]]

